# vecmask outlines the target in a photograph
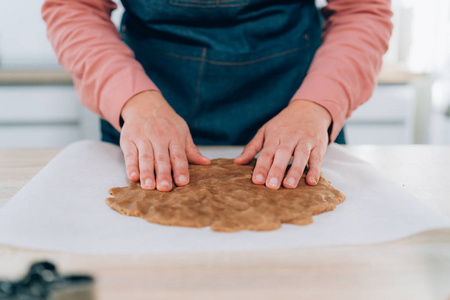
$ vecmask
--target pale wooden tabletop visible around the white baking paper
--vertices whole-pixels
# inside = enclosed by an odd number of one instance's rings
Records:
[[[347,146],[450,216],[450,147]],[[0,205],[59,149],[0,149]],[[48,259],[90,273],[97,299],[450,300],[450,230],[370,246],[210,254],[74,255],[0,246],[0,278]]]

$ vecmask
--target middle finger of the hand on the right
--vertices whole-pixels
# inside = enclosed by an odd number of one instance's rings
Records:
[[[286,168],[292,157],[294,145],[282,144],[275,152],[275,156],[267,174],[266,186],[271,189],[279,189],[286,173]]]

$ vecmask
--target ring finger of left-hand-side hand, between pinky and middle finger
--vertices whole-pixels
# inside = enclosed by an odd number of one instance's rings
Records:
[[[153,147],[150,142],[143,142],[139,144],[138,151],[141,187],[146,190],[153,190],[156,186]]]

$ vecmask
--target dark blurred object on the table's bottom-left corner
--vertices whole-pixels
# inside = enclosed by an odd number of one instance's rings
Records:
[[[94,300],[91,276],[61,276],[55,265],[38,262],[17,282],[0,281],[0,300]]]

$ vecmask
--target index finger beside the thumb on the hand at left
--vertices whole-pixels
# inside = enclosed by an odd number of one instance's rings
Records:
[[[189,182],[189,164],[186,157],[185,145],[175,142],[169,145],[170,163],[172,165],[173,179],[177,186]]]

